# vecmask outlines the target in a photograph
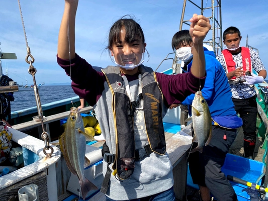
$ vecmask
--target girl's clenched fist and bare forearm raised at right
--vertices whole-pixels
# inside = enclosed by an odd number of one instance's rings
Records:
[[[211,25],[209,23],[209,19],[206,17],[197,14],[193,15],[193,18],[190,19],[191,27],[190,27],[190,35],[193,39],[193,64],[191,67],[191,72],[196,77],[204,77],[206,74],[206,62],[205,55],[203,49],[203,41],[211,29]]]

